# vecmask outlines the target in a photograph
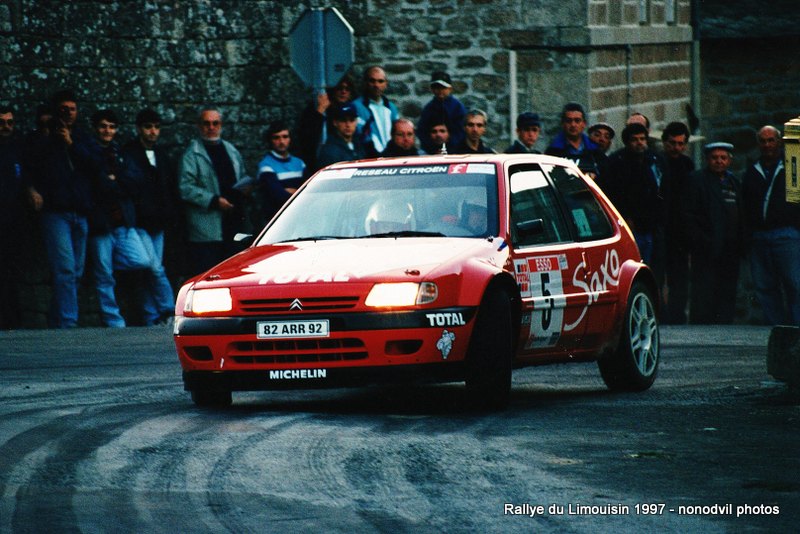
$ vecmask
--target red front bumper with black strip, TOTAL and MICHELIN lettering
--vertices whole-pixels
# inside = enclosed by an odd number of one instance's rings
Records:
[[[477,309],[446,309],[248,317],[178,317],[175,344],[187,388],[225,383],[226,389],[336,387],[408,381],[404,373],[453,368],[466,356]],[[258,339],[259,321],[325,319],[325,338]],[[400,370],[404,368],[406,370]],[[271,373],[271,374],[270,374]],[[438,376],[441,373],[442,376]],[[190,378],[186,378],[186,377]],[[199,377],[199,378],[198,378]],[[397,378],[395,378],[397,377]],[[320,386],[320,384],[324,384]]]

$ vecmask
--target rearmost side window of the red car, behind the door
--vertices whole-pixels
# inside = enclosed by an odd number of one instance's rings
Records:
[[[547,170],[564,199],[578,241],[605,239],[614,235],[614,227],[606,212],[580,176],[566,167],[553,166]]]

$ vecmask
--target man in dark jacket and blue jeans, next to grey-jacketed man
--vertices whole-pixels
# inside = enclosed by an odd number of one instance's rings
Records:
[[[122,180],[136,209],[136,229],[153,263],[142,293],[145,325],[169,323],[175,300],[164,269],[164,235],[177,220],[177,177],[166,150],[158,146],[161,116],[152,109],[136,115],[135,139],[122,147]]]

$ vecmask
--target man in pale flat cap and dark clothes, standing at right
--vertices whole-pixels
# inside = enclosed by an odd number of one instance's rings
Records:
[[[741,192],[728,170],[733,145],[704,147],[706,167],[690,176],[686,226],[691,254],[691,324],[730,324],[742,258]]]

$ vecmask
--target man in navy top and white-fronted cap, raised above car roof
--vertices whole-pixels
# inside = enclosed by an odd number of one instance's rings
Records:
[[[459,99],[453,96],[453,81],[444,71],[434,72],[430,83],[433,98],[422,108],[417,123],[417,137],[422,149],[428,154],[438,154],[441,145],[434,146],[431,141],[431,128],[437,124],[446,124],[450,132],[449,143],[457,145],[464,140],[464,118],[467,109]]]

